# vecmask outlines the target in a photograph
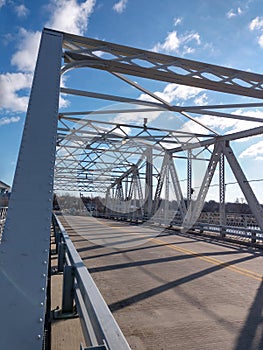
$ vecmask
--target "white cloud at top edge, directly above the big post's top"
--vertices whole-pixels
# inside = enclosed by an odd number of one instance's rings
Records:
[[[52,0],[49,6],[51,18],[46,27],[83,35],[88,28],[88,19],[95,2],[86,0],[79,4],[76,0]]]

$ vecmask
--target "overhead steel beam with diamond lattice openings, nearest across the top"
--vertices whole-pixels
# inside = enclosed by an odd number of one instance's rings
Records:
[[[263,75],[106,41],[64,35],[64,71],[91,67],[108,72],[194,86],[224,93],[263,97]],[[110,55],[110,59],[103,58]]]

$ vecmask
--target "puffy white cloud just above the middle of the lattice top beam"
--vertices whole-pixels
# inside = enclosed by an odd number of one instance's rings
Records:
[[[179,52],[179,49],[183,48],[183,53],[191,53],[194,48],[188,46],[190,42],[200,45],[200,35],[196,32],[179,35],[176,30],[173,30],[167,34],[163,42],[157,43],[152,50],[172,53]]]

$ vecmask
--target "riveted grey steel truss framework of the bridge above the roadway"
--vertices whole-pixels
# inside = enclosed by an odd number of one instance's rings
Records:
[[[96,89],[76,87],[77,79],[61,79],[69,71],[86,75],[86,85]],[[109,94],[102,85],[97,92],[95,73],[121,88]],[[226,94],[239,95],[244,102],[173,105],[151,91],[149,81],[152,86],[173,83],[221,94],[222,101]],[[135,92],[141,93],[139,98]],[[85,107],[59,111],[59,99],[65,96]],[[106,217],[140,222],[161,218],[182,232],[199,228],[261,243],[263,210],[231,143],[263,133],[263,119],[246,115],[248,108],[263,107],[262,97],[261,74],[44,29],[1,242],[2,314],[23,315],[23,324],[6,317],[4,329],[13,329],[16,337],[10,343],[3,332],[0,344],[42,347],[54,191],[100,196],[100,214]],[[248,128],[221,135],[196,119],[200,115],[248,122]],[[154,126],[153,116],[176,120],[176,126]],[[135,122],[126,123],[127,117]],[[185,128],[187,121],[198,124],[200,132]],[[201,175],[197,163],[202,164]],[[250,223],[238,229],[229,226],[225,211],[226,164],[252,213]],[[195,176],[200,186],[193,192]],[[213,223],[202,214],[212,181],[218,185],[220,208]]]

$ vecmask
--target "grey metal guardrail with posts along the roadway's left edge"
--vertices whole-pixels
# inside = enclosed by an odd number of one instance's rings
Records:
[[[62,309],[55,318],[80,317],[87,348],[131,350],[105,300],[70,237],[56,215],[53,227],[58,252],[58,271],[63,271]],[[74,307],[74,301],[76,308]]]

